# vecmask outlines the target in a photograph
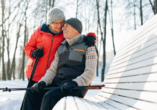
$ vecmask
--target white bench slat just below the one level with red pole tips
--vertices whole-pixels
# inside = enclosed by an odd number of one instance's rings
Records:
[[[103,88],[101,91],[115,94],[115,95],[121,95],[125,97],[131,97],[135,99],[145,100],[153,103],[157,103],[157,92],[146,92],[146,91],[133,91],[133,90],[120,90],[120,89],[110,89],[110,88]],[[101,92],[99,92],[101,94]]]

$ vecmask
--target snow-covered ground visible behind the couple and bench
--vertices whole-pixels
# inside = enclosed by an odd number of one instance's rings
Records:
[[[0,81],[0,88],[25,88],[28,81],[13,80],[13,81]],[[92,85],[102,84],[100,77],[96,77]],[[85,98],[93,97],[99,90],[89,90]],[[12,91],[2,92],[0,91],[0,110],[20,110],[22,99],[25,91]]]

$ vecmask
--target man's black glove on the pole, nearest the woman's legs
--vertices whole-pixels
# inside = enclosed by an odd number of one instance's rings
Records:
[[[35,83],[32,87],[31,87],[31,91],[33,93],[40,93],[40,91],[46,87],[46,83],[44,81],[41,81],[41,82],[38,82],[38,83]]]

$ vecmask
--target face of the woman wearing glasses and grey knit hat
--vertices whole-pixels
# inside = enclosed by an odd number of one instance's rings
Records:
[[[63,25],[64,20],[58,20],[50,24],[52,30],[54,30],[55,32],[61,32]]]

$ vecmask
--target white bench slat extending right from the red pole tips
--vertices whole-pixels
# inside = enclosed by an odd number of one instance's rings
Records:
[[[106,88],[157,92],[157,82],[106,84]]]

